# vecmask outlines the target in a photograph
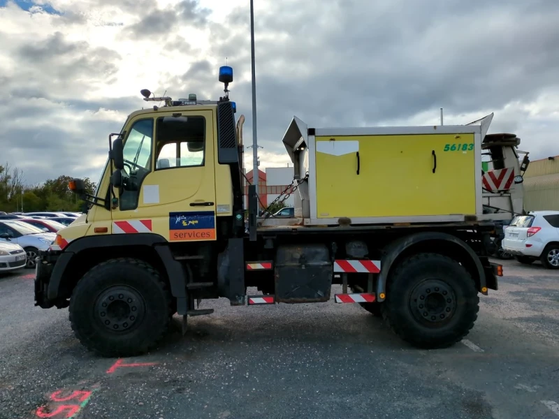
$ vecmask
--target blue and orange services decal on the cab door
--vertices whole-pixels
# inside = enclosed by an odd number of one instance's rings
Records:
[[[170,212],[169,240],[215,240],[215,212]]]

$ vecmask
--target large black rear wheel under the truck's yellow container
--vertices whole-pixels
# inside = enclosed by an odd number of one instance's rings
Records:
[[[470,332],[479,297],[470,273],[456,260],[419,253],[395,268],[380,305],[396,335],[418,348],[434,349],[451,346]]]

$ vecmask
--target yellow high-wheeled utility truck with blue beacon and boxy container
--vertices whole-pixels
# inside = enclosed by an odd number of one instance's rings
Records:
[[[225,94],[214,102],[142,91],[165,105],[133,112],[109,135],[92,196],[71,182],[90,206],[41,253],[36,305],[69,307],[76,337],[106,356],[144,353],[174,314],[184,330],[188,316],[212,313],[199,303],[217,297],[234,306],[361,304],[420,348],[467,335],[479,293],[496,290],[502,275],[488,259],[493,221],[514,212],[495,215],[484,201],[491,115],[377,128],[312,128],[295,117],[283,138],[295,216],[262,218],[255,186],[243,205],[244,117],[235,124],[232,69],[219,80]]]

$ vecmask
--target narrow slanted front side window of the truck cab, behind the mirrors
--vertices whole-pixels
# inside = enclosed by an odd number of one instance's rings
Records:
[[[135,210],[143,179],[152,170],[153,119],[134,122],[124,142],[123,186],[120,210]]]

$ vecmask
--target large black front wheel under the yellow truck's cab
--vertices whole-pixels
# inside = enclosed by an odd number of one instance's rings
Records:
[[[82,345],[102,356],[123,357],[146,353],[159,342],[168,330],[172,304],[157,270],[143,260],[117,258],[96,265],[78,281],[69,311]]]

